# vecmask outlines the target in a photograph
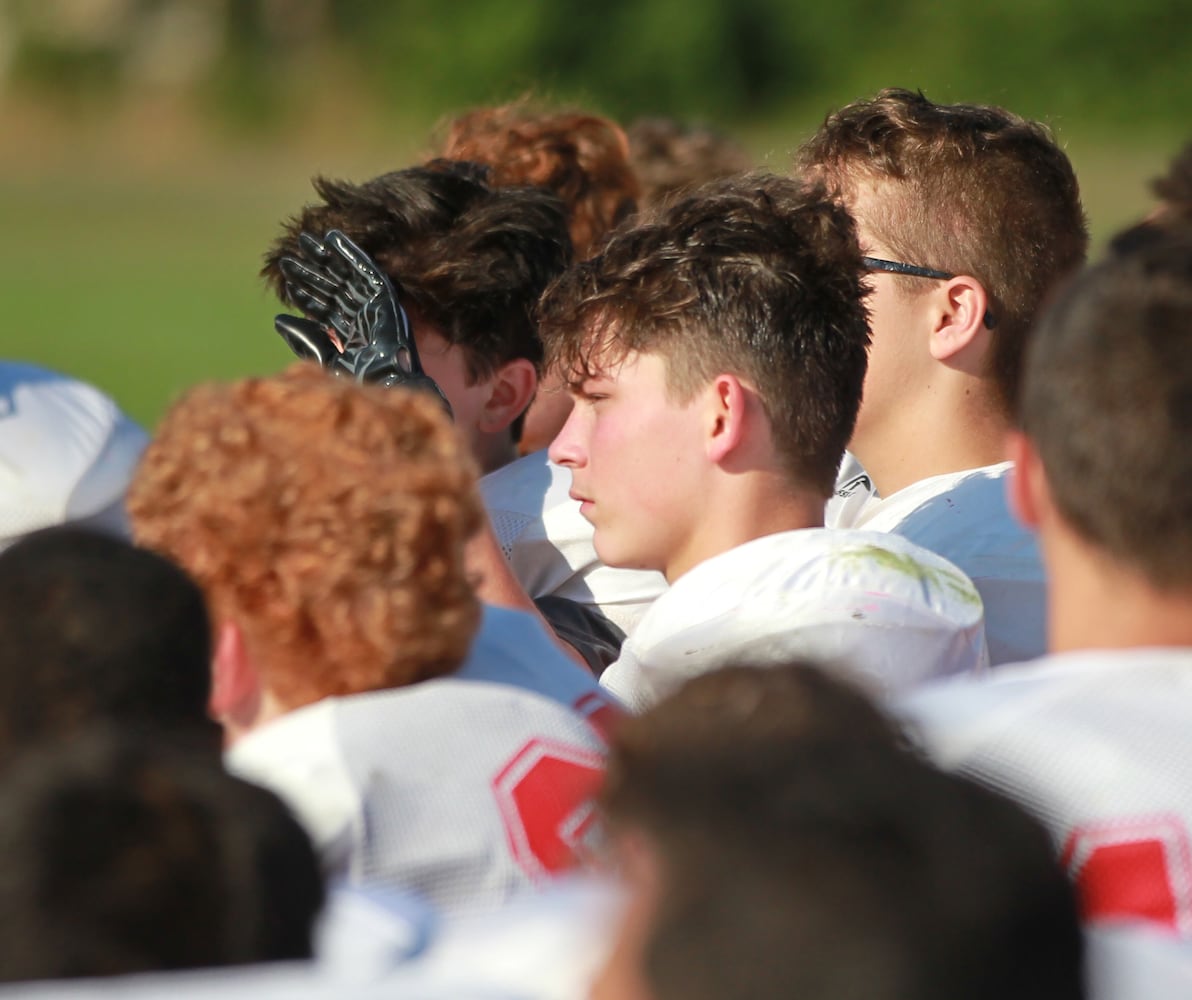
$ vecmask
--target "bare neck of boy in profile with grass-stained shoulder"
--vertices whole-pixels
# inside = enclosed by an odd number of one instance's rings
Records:
[[[793,489],[775,472],[726,477],[704,496],[707,514],[663,569],[668,583],[706,559],[778,532],[824,527],[824,497]]]

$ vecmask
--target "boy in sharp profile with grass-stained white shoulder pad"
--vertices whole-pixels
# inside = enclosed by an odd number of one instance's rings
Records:
[[[610,566],[671,584],[602,677],[634,708],[744,653],[877,688],[979,669],[981,602],[904,539],[822,528],[869,341],[848,212],[775,176],[716,182],[548,291],[576,406],[551,446]]]

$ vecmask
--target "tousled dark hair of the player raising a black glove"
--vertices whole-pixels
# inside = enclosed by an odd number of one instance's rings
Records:
[[[533,310],[571,261],[563,204],[539,187],[493,187],[483,167],[435,161],[365,184],[316,178],[322,201],[285,224],[262,277],[285,299],[281,257],[298,235],[339,229],[373,257],[410,308],[464,349],[472,380],[517,359],[540,366]]]

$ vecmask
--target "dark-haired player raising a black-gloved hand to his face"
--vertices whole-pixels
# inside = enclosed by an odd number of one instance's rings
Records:
[[[349,308],[359,305],[354,290],[329,286],[319,275],[339,281],[359,263],[392,284],[401,308],[391,310],[409,338],[405,353],[449,404],[482,473],[495,477],[484,490],[493,532],[472,552],[482,597],[523,610],[534,610],[529,598],[538,600],[555,632],[598,672],[616,658],[623,629],[664,584],[656,574],[602,566],[566,490],[561,501],[551,490],[558,471],[545,460],[514,462],[542,362],[534,306],[571,259],[564,204],[540,187],[496,187],[485,168],[448,161],[364,184],[317,179],[315,188],[321,203],[287,222],[262,273],[285,302],[308,315],[324,312],[337,294]],[[353,263],[344,267],[322,241],[330,230],[350,241]],[[294,319],[279,317],[279,323],[293,346]],[[360,347],[344,342],[343,330],[337,344],[322,335],[313,349],[317,327],[305,336],[306,349],[299,353],[328,367]],[[524,632],[516,619],[503,617],[514,632]]]

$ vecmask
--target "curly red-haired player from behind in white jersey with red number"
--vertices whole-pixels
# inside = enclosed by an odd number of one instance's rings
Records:
[[[483,514],[429,393],[312,365],[198,386],[129,514],[207,597],[229,768],[287,801],[328,871],[472,908],[577,861],[602,743],[569,706],[595,683],[470,650]]]

